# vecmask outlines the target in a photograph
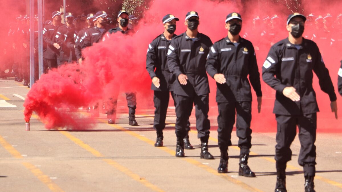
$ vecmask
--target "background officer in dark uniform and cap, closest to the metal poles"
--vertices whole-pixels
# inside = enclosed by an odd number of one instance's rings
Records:
[[[59,49],[61,46],[55,41],[55,34],[58,29],[62,25],[62,17],[61,12],[54,11],[52,13],[52,23],[46,25],[43,29],[43,40],[47,43],[47,49],[43,53],[45,63],[48,65],[50,69],[57,68],[57,57],[59,54]]]

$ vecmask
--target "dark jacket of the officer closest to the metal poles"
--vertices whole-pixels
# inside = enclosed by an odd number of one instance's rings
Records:
[[[55,34],[56,34],[58,27],[60,27],[61,25],[62,24],[54,26],[52,25],[52,23],[50,23],[49,25],[45,25],[43,29],[43,40],[48,45],[46,51],[44,52],[44,57],[46,59],[55,59],[56,55],[60,53],[60,51],[56,49],[53,46],[53,44],[56,43]]]

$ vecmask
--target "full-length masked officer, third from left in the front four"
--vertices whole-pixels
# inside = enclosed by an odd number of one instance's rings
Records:
[[[231,137],[235,123],[236,135],[239,137],[240,148],[239,175],[255,177],[247,165],[251,148],[250,128],[253,89],[258,97],[258,112],[261,110],[261,84],[253,44],[240,37],[242,19],[240,14],[233,12],[227,15],[225,28],[227,37],[215,42],[210,48],[207,59],[207,72],[217,84],[216,102],[218,103],[218,140],[221,151],[219,173],[227,173],[228,146],[232,145]],[[247,76],[249,75],[249,81]]]

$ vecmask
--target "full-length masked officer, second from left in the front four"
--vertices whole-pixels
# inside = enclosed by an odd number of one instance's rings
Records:
[[[184,137],[186,127],[193,108],[196,107],[197,137],[201,140],[200,157],[214,159],[208,152],[208,139],[210,134],[209,111],[209,82],[206,73],[206,58],[210,38],[198,32],[199,16],[197,12],[188,12],[185,16],[187,30],[173,38],[167,53],[169,70],[175,75],[173,92],[176,101],[177,136],[176,157],[184,157]]]

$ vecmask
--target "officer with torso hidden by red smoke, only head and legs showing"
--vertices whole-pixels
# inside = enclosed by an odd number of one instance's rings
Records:
[[[117,21],[119,22],[119,27],[110,29],[108,32],[109,34],[112,33],[117,33],[121,32],[122,34],[125,35],[130,35],[133,33],[132,29],[128,28],[128,13],[125,10],[121,10],[118,13],[118,18]],[[104,37],[109,38],[109,35]],[[110,101],[108,102],[108,123],[109,124],[114,124],[115,123],[115,118],[116,118],[116,108],[117,108],[117,95],[114,96],[114,98],[110,98]],[[135,109],[136,109],[136,93],[135,92],[128,92],[126,93],[126,100],[127,100],[127,107],[129,110],[129,125],[131,126],[137,126],[138,123],[135,120]]]

